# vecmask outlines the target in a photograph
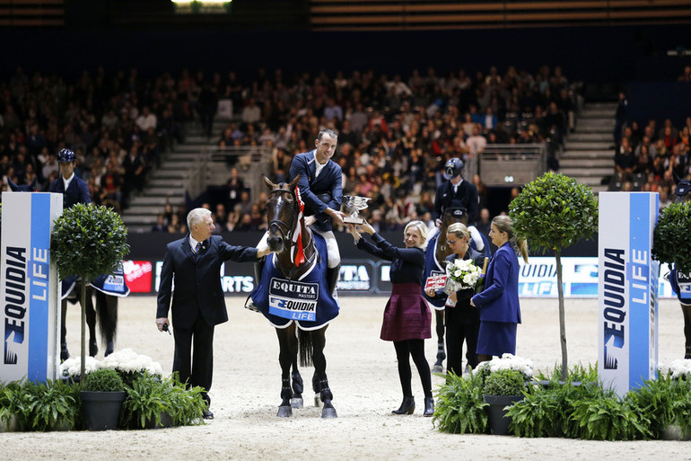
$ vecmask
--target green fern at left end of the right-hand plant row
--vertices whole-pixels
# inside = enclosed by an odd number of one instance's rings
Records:
[[[449,374],[436,395],[433,423],[439,430],[452,434],[487,431],[487,403],[482,400],[482,383],[479,374],[470,377]]]

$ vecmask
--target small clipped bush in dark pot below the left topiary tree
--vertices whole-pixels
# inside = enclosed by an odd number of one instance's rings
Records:
[[[84,423],[88,430],[117,429],[126,386],[112,368],[99,368],[81,381]]]

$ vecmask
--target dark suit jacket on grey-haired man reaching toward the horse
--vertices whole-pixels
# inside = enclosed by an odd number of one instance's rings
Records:
[[[219,275],[224,261],[249,262],[257,260],[257,248],[232,246],[220,235],[212,235],[202,244],[197,258],[189,246],[189,234],[166,246],[161,283],[158,288],[156,318],[168,317],[171,306],[172,324],[183,329],[192,328],[201,314],[206,324],[228,321],[225,297]]]

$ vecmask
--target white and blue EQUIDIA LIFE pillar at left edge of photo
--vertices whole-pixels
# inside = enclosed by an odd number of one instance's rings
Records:
[[[50,232],[62,195],[3,192],[0,381],[57,377],[60,313]]]

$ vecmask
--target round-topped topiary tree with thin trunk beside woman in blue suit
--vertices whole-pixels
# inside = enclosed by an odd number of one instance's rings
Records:
[[[556,289],[559,297],[559,336],[562,349],[562,380],[566,381],[566,325],[562,251],[598,230],[598,202],[592,190],[561,173],[545,173],[529,182],[509,205],[513,228],[531,247],[543,254],[553,250],[556,259]]]

